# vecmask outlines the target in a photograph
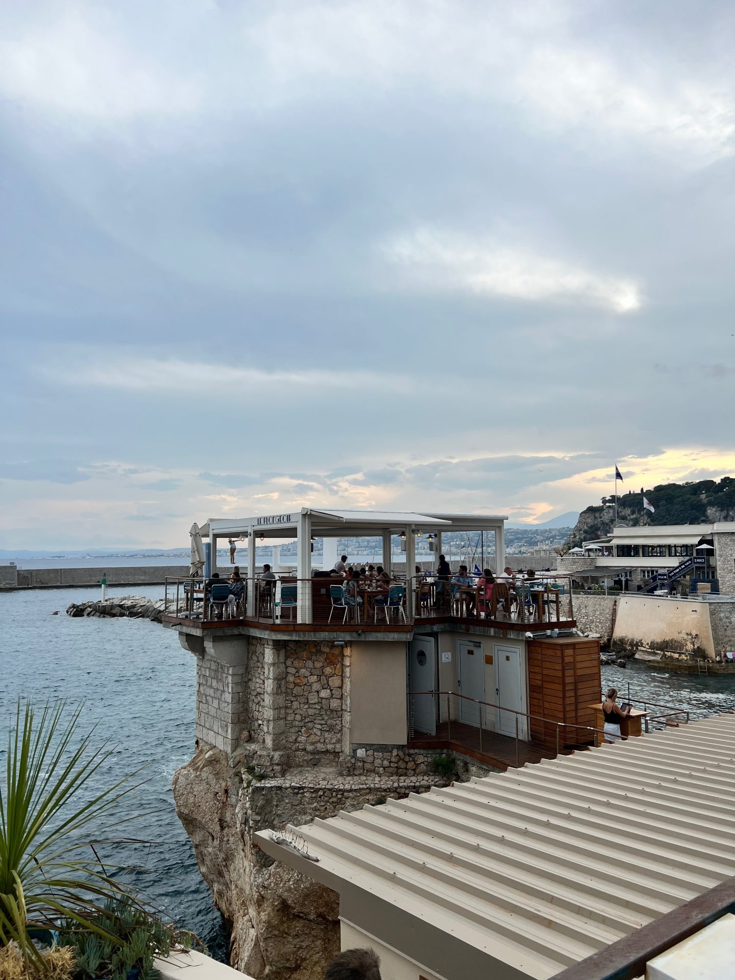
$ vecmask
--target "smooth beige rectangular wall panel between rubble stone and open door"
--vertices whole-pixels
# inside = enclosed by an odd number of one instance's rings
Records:
[[[352,643],[351,733],[362,745],[406,744],[406,643]]]

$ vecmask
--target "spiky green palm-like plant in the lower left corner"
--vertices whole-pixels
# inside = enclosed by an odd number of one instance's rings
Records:
[[[94,729],[78,738],[81,707],[70,712],[59,702],[36,712],[19,700],[8,736],[0,785],[0,946],[15,940],[26,958],[38,956],[30,929],[72,920],[104,935],[105,902],[123,894],[80,831],[135,786],[126,776],[90,792],[89,780],[112,750],[92,746]]]

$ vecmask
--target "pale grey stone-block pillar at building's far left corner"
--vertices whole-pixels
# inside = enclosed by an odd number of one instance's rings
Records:
[[[190,650],[191,641],[180,638],[181,646]],[[196,736],[229,755],[247,720],[248,640],[245,636],[204,637],[201,648],[197,644],[196,649]]]

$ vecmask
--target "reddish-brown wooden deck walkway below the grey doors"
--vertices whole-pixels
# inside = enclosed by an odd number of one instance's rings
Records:
[[[447,749],[450,752],[459,752],[463,756],[492,765],[496,769],[504,772],[508,768],[515,768],[517,765],[525,765],[527,762],[540,762],[542,759],[556,759],[556,746],[546,745],[544,742],[532,740],[522,742],[518,740],[517,760],[515,753],[515,738],[508,735],[499,735],[497,732],[490,732],[480,729],[474,725],[466,725],[460,721],[452,721],[448,724],[443,721],[436,726],[436,735],[424,735],[417,732],[409,741],[409,749]],[[572,752],[586,750],[587,746],[575,746],[563,748],[561,756],[570,756]]]

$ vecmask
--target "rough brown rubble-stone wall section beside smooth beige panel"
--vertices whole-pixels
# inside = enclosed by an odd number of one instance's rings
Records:
[[[285,644],[285,746],[293,764],[338,756],[343,744],[343,686],[350,650],[331,642]]]

